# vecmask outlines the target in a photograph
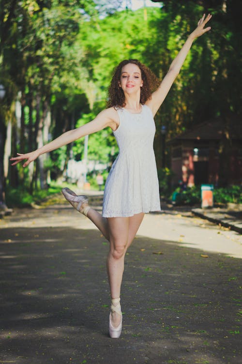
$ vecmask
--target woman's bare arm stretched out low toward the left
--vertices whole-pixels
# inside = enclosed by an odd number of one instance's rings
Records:
[[[66,144],[73,142],[74,140],[82,138],[85,135],[98,132],[102,129],[105,129],[108,126],[113,130],[115,130],[117,128],[116,114],[117,112],[113,108],[103,110],[95,117],[95,119],[93,119],[89,123],[82,125],[77,129],[64,132],[58,138],[52,140],[52,142],[45,144],[42,148],[36,149],[26,154],[17,153],[18,157],[10,159],[11,161],[14,162],[12,163],[12,165],[16,165],[17,163],[26,160],[26,162],[23,164],[23,167],[26,167],[27,165],[30,164],[30,162],[33,162],[41,154],[58,149]]]

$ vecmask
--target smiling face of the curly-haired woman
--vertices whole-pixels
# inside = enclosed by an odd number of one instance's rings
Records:
[[[124,93],[131,94],[140,92],[140,87],[143,86],[140,68],[133,64],[128,63],[121,69],[120,87]]]

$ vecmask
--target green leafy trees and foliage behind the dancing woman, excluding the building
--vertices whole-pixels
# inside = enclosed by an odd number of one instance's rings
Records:
[[[4,113],[0,115],[1,151],[8,120],[12,121],[12,154],[39,148],[62,132],[91,120],[105,107],[112,70],[124,58],[138,58],[162,79],[187,35],[196,27],[197,19],[208,11],[213,14],[212,31],[193,44],[156,116],[154,149],[158,169],[162,154],[161,125],[166,126],[166,137],[172,138],[210,117],[226,119],[229,112],[241,116],[242,6],[239,1],[164,0],[161,8],[135,12],[117,11],[121,3],[121,0],[112,3],[107,0],[1,0],[0,81],[6,89],[1,104]],[[17,120],[16,95],[22,109],[22,116]],[[230,148],[229,135],[225,133],[222,131],[221,135],[228,140],[227,146],[222,141],[219,150],[223,161],[228,160],[225,154],[229,155]],[[17,166],[15,178],[7,183],[12,187],[25,184],[30,191],[34,185],[45,188],[47,170],[51,169],[52,178],[60,176],[72,156],[71,149],[74,158],[83,157],[83,144],[80,140],[51,152],[49,157],[41,156],[34,168],[30,167],[30,173]],[[116,153],[110,130],[90,136],[90,159],[107,162]],[[0,200],[5,183],[2,159],[3,152],[0,153]],[[223,166],[220,179],[229,170],[227,163]],[[169,173],[159,170],[164,195],[169,193]],[[195,199],[189,193],[186,199]]]

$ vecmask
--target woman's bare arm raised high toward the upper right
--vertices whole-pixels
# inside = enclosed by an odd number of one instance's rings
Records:
[[[201,36],[202,34],[208,32],[211,27],[204,28],[207,22],[211,19],[212,15],[208,15],[205,18],[205,14],[201,17],[201,19],[197,23],[197,28],[188,36],[187,40],[185,41],[183,47],[181,48],[180,52],[176,56],[176,58],[172,61],[166,76],[164,77],[162,83],[158,87],[158,89],[153,92],[152,97],[150,100],[146,102],[146,104],[151,108],[153,115],[156,114],[157,110],[163,103],[164,99],[166,98],[169,89],[172,86],[172,83],[175,81],[177,75],[180,72],[181,66],[183,65],[186,56],[193,44],[193,41]]]

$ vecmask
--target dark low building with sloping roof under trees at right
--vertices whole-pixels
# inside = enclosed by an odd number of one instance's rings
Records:
[[[182,181],[188,187],[201,183],[242,183],[242,120],[230,116],[227,122],[216,118],[169,141],[172,185]],[[223,177],[221,177],[223,176]]]

